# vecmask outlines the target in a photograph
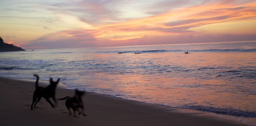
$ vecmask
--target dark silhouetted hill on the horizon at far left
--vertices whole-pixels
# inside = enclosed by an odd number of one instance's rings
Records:
[[[9,51],[25,51],[25,50],[13,44],[4,43],[3,38],[0,37],[0,52],[9,52]]]

